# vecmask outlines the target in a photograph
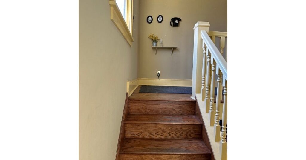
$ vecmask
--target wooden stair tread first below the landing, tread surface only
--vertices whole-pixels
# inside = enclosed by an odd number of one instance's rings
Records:
[[[129,114],[125,124],[202,124],[196,115]]]

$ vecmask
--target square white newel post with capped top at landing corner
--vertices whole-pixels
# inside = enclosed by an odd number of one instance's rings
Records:
[[[201,93],[203,46],[202,46],[202,38],[200,32],[204,30],[208,33],[209,26],[210,26],[209,22],[198,22],[194,25],[193,28],[194,39],[193,39],[193,64],[192,64],[192,96],[191,96],[192,99],[196,99],[196,94]]]

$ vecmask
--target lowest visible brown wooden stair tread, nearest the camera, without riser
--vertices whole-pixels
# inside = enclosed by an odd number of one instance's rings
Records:
[[[201,139],[125,139],[120,154],[211,154]]]

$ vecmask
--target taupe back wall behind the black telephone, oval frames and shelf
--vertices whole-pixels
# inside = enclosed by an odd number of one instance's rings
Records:
[[[138,77],[157,78],[161,71],[163,79],[192,79],[193,27],[198,21],[210,23],[210,31],[227,31],[226,0],[141,0],[139,2],[139,58]],[[157,22],[157,16],[163,22]],[[148,24],[148,15],[153,22]],[[179,27],[170,27],[172,17],[181,18]],[[159,49],[157,55],[151,48],[154,33],[164,46],[177,46],[174,54],[169,49]],[[158,43],[159,44],[159,43]]]

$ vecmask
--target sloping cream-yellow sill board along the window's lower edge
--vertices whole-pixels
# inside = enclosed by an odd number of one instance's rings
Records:
[[[125,38],[126,42],[129,43],[129,45],[132,47],[132,42],[134,42],[134,39],[129,31],[128,26],[125,23],[124,18],[121,15],[121,12],[116,2],[115,1],[109,1],[109,2],[110,2],[110,20],[112,20],[112,22],[115,24],[115,26],[118,28],[120,33]]]

